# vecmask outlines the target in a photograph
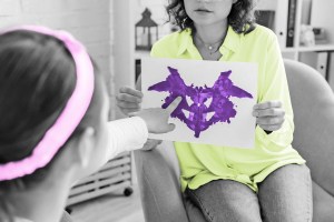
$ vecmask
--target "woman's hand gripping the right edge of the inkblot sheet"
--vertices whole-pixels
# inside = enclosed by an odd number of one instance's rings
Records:
[[[253,117],[263,130],[272,132],[282,128],[285,111],[281,101],[267,101],[254,105]]]

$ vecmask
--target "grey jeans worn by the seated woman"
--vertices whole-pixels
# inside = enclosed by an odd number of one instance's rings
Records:
[[[305,164],[277,169],[258,184],[258,193],[236,181],[216,180],[187,189],[185,198],[202,211],[188,215],[190,222],[312,221],[312,180]]]

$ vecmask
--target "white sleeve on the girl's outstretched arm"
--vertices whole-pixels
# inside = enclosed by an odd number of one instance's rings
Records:
[[[141,118],[134,117],[108,122],[108,137],[105,162],[121,152],[141,149],[147,141],[148,130]]]

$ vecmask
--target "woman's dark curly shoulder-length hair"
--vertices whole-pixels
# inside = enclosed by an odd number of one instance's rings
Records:
[[[254,17],[255,0],[237,0],[232,6],[228,14],[228,24],[237,33],[249,33],[255,28]],[[169,0],[166,8],[169,21],[175,22],[183,31],[187,28],[195,29],[193,20],[188,17],[184,0]]]

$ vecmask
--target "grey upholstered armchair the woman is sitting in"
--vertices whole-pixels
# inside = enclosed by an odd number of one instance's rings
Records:
[[[313,180],[313,221],[334,221],[334,93],[313,68],[284,61],[295,132],[293,147],[306,159]],[[180,193],[178,160],[171,142],[135,151],[141,203],[147,222],[194,222],[202,212]]]

